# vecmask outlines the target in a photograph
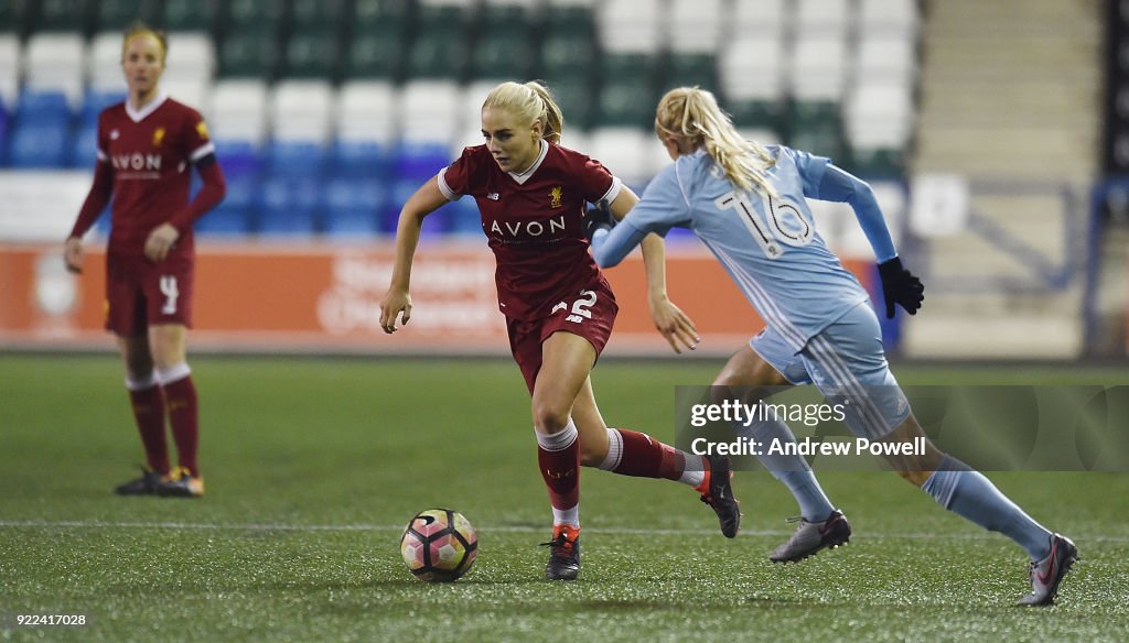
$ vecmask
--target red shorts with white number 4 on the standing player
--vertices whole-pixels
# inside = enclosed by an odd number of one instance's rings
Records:
[[[106,255],[106,329],[132,337],[149,326],[192,326],[191,256],[155,264],[143,256]]]

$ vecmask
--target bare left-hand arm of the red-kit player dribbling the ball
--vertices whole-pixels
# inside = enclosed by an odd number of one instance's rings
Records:
[[[396,258],[392,266],[392,281],[380,298],[380,327],[385,333],[396,332],[396,320],[408,324],[412,316],[412,259],[420,243],[423,218],[447,203],[439,190],[439,182],[431,178],[404,203],[396,223]]]

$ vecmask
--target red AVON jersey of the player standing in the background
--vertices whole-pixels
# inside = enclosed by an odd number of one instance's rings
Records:
[[[184,212],[192,164],[213,152],[200,113],[165,95],[141,111],[125,103],[105,108],[98,116],[98,162],[113,173],[111,252],[140,254],[154,228]],[[192,227],[177,228],[181,237],[170,254],[191,256]]]

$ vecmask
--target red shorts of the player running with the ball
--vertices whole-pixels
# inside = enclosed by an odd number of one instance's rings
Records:
[[[533,382],[541,370],[541,344],[553,333],[563,331],[579,335],[596,349],[596,359],[604,351],[612,335],[612,325],[620,307],[606,283],[594,284],[576,297],[558,303],[548,317],[541,319],[506,318],[509,349],[517,368],[522,369],[525,386],[533,393]]]

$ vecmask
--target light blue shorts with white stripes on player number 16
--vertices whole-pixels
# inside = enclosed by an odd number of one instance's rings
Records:
[[[874,309],[859,303],[807,341],[797,353],[774,328],[749,345],[794,385],[815,385],[829,404],[843,405],[847,426],[877,440],[905,421],[910,405],[890,372]]]

